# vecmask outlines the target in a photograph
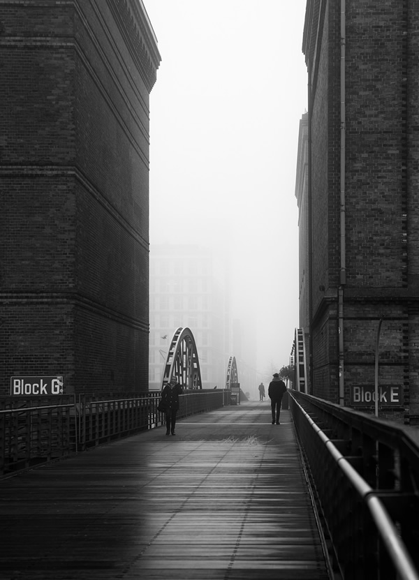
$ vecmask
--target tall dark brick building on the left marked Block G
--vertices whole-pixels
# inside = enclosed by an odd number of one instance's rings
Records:
[[[0,5],[0,393],[147,389],[149,93],[141,0]]]

